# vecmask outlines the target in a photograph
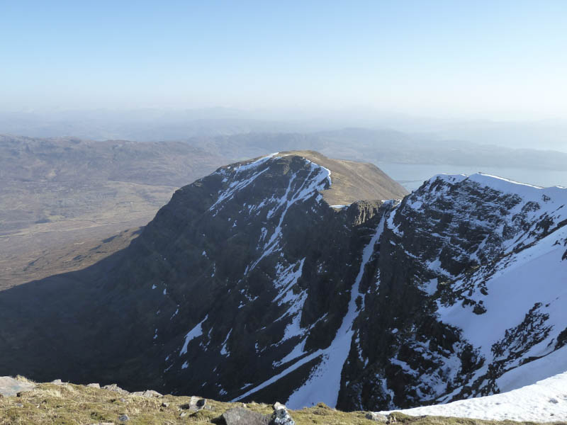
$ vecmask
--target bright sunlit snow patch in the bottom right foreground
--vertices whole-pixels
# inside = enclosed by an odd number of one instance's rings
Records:
[[[567,356],[567,353],[563,352],[562,355]],[[489,421],[567,421],[567,372],[503,394],[415,407],[400,412],[411,416],[455,416]]]

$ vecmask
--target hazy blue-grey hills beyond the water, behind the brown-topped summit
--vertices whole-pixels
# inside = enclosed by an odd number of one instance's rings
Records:
[[[254,157],[279,150],[311,149],[330,157],[373,164],[451,164],[567,171],[566,152],[439,140],[433,136],[411,135],[395,130],[344,128],[309,133],[256,132],[192,137],[187,142],[228,157]]]

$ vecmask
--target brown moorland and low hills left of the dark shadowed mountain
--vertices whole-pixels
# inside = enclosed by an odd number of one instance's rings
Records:
[[[231,160],[184,142],[0,135],[0,289],[84,265],[68,254],[146,225],[176,188]]]

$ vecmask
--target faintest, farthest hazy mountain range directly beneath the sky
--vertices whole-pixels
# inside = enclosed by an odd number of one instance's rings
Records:
[[[493,145],[567,152],[567,120],[564,119],[439,119],[364,109],[334,113],[235,108],[0,112],[0,134],[94,140],[157,142],[249,132],[310,133],[342,128],[390,129],[417,140],[449,140],[461,146]]]

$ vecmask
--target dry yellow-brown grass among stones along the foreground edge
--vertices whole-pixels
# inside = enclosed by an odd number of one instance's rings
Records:
[[[20,378],[25,380],[25,378]],[[26,380],[28,381],[28,380]],[[29,381],[28,381],[29,382]],[[84,425],[111,423],[120,424],[118,417],[127,414],[128,425],[146,424],[210,424],[220,414],[242,403],[223,403],[208,400],[208,409],[198,412],[181,410],[181,404],[190,397],[165,395],[147,398],[136,395],[120,395],[118,392],[84,385],[38,384],[35,390],[24,392],[20,397],[0,398],[0,425]],[[167,407],[162,405],[168,403]],[[249,403],[247,409],[270,414],[271,406]],[[185,413],[181,416],[181,413]],[[297,425],[371,425],[376,424],[364,417],[364,412],[340,412],[325,404],[290,411]],[[434,416],[411,417],[394,413],[391,421],[396,424],[419,425],[495,425],[520,424],[512,421],[480,421],[476,419],[441,418]],[[524,425],[532,424],[525,422]],[[549,425],[549,424],[548,424]]]

